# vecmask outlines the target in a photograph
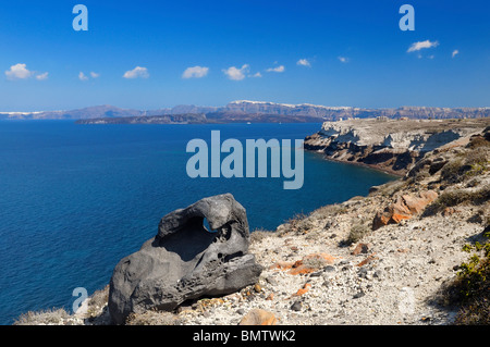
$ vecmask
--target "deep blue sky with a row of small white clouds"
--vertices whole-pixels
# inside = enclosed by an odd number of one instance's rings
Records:
[[[72,27],[77,3],[86,32]],[[413,32],[399,27],[404,3]],[[483,0],[5,0],[0,111],[490,107],[489,15]]]

